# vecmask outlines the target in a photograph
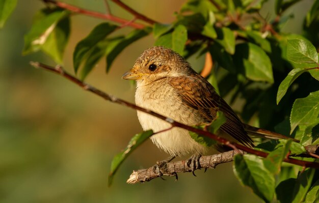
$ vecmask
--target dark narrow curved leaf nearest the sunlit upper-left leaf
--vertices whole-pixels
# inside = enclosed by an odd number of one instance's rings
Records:
[[[117,25],[108,22],[98,24],[86,38],[77,43],[73,52],[73,67],[75,72],[77,72],[81,63],[86,59],[88,52],[91,51],[98,42],[115,31],[116,28],[118,28]]]

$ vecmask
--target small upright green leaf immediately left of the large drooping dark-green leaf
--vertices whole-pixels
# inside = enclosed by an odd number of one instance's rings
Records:
[[[231,31],[228,27],[217,28],[217,39],[220,45],[222,45],[225,50],[230,53],[234,54],[235,52],[235,35],[234,32]]]

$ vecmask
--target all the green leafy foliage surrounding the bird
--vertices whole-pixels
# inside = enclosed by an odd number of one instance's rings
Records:
[[[0,27],[16,2],[1,1]],[[285,11],[301,0],[276,0],[277,17],[271,21],[259,14],[264,2],[190,0],[176,12],[173,22],[135,27],[124,36],[117,31],[131,22],[122,26],[101,23],[77,43],[74,70],[78,73],[82,67],[80,77],[85,79],[105,57],[108,72],[124,48],[150,33],[155,45],[172,48],[185,58],[209,53],[213,67],[207,79],[221,96],[229,96],[231,103],[243,102],[241,116],[245,122],[269,130],[280,129],[286,135],[290,132],[301,140],[300,143],[277,140],[258,144],[257,149],[270,152],[266,158],[237,155],[233,165],[236,177],[267,202],[275,197],[280,202],[304,199],[315,202],[319,185],[315,170],[302,172],[297,166],[287,169],[282,162],[287,154],[302,154],[307,144],[319,143],[319,0],[314,1],[304,19],[302,36],[281,31],[283,23],[290,18]],[[23,54],[42,50],[61,64],[70,34],[70,17],[70,11],[56,6],[40,10],[24,37]],[[223,122],[221,114],[208,130],[215,133]],[[110,181],[129,153],[151,134],[152,131],[147,131],[136,135],[124,152],[114,158]],[[201,135],[190,135],[206,146],[214,144]]]

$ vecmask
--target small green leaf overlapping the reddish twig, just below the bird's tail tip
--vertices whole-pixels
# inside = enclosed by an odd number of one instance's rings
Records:
[[[274,175],[279,173],[281,168],[282,160],[289,152],[289,147],[292,140],[280,140],[280,143],[277,144],[274,151],[270,152],[267,158],[263,159],[265,166],[271,171]]]

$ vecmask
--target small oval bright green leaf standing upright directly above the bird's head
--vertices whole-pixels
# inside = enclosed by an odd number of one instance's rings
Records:
[[[177,25],[172,33],[172,48],[182,55],[185,43],[187,41],[187,30],[184,25]]]

